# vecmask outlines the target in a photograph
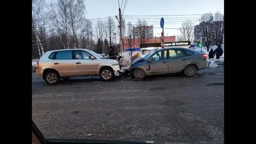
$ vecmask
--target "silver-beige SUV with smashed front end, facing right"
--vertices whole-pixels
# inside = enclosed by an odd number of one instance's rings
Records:
[[[119,75],[118,61],[105,59],[88,49],[48,51],[37,62],[37,75],[48,84],[57,84],[61,78],[100,76],[109,81]]]

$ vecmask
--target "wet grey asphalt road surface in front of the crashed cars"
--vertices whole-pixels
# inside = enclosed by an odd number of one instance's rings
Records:
[[[32,73],[32,120],[46,138],[224,144],[224,68],[58,85]]]

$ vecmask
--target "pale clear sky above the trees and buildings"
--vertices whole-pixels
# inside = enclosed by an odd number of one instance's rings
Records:
[[[123,5],[122,5],[123,1]],[[148,25],[153,25],[154,36],[159,37],[161,33],[160,19],[164,18],[164,36],[175,36],[181,24],[190,20],[199,24],[199,18],[204,13],[219,11],[224,14],[224,0],[119,0],[125,23],[129,21],[136,24],[138,18],[146,20]],[[121,7],[122,6],[122,7]],[[86,18],[95,19],[118,15],[118,0],[85,0]],[[123,11],[124,9],[124,11]],[[133,16],[135,15],[135,16]],[[144,16],[143,16],[144,15]],[[145,16],[147,15],[147,16]],[[113,17],[118,25],[118,21]],[[106,18],[102,18],[106,20]],[[96,23],[96,20],[92,20]],[[170,29],[173,28],[173,29]],[[119,31],[116,31],[119,32]]]

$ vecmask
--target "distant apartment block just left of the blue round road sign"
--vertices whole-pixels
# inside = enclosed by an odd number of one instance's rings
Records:
[[[142,37],[145,37],[145,38],[153,38],[154,37],[153,25],[137,26],[137,27],[132,26],[132,31],[134,32],[135,38],[140,37],[140,32],[139,32],[140,30],[142,31],[142,35],[145,35]]]

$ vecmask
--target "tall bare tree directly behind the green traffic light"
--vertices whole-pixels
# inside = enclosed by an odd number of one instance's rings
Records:
[[[211,13],[206,13],[201,17],[200,29],[202,30],[202,44],[207,47],[207,52],[209,52],[209,47],[212,46],[214,31],[213,24],[209,22]]]

